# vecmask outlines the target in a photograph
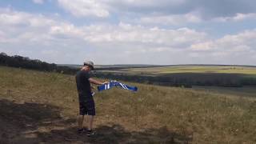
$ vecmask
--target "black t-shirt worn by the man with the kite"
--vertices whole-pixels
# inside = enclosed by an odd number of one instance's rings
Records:
[[[78,94],[91,94],[90,90],[90,82],[89,82],[90,74],[85,70],[79,70],[75,76],[75,80],[77,82]]]

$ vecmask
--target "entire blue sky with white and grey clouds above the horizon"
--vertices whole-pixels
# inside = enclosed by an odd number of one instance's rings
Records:
[[[256,65],[254,0],[2,0],[0,52],[81,64]]]

